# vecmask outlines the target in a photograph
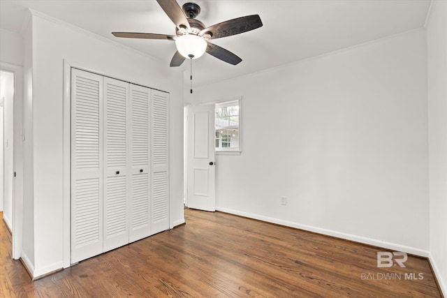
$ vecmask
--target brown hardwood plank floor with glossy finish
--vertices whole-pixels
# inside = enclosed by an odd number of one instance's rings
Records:
[[[185,218],[34,282],[1,221],[0,297],[441,297],[423,258],[377,268],[381,248],[221,212]]]

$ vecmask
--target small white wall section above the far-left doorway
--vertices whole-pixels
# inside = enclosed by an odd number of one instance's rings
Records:
[[[0,61],[23,66],[24,41],[20,34],[0,29]]]

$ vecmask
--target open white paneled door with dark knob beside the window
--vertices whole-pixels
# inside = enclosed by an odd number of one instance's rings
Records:
[[[216,210],[214,105],[188,107],[188,207]]]

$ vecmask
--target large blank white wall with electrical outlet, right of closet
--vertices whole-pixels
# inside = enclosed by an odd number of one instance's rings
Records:
[[[217,209],[427,255],[425,38],[196,88],[196,103],[242,96],[244,146],[217,156]]]

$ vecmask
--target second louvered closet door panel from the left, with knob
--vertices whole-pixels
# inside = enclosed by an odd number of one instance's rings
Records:
[[[129,83],[104,77],[104,252],[129,243]]]

